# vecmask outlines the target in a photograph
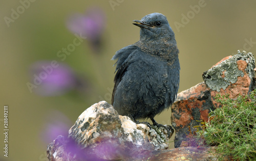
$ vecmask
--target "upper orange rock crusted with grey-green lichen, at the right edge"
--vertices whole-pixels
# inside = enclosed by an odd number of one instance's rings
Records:
[[[228,94],[230,98],[237,98],[239,95],[248,94],[255,86],[253,71],[255,65],[251,52],[239,51],[237,55],[226,58],[203,73],[212,103],[216,107],[220,106],[220,103],[215,101],[217,94]]]

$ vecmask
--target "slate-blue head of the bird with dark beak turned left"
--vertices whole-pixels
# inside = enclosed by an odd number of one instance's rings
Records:
[[[140,40],[175,41],[172,28],[161,13],[152,13],[144,16],[141,20],[134,20],[134,25],[140,27]]]

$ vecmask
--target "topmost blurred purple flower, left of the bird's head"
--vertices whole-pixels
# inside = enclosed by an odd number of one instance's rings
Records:
[[[87,37],[92,49],[98,52],[105,30],[105,13],[98,7],[91,7],[85,14],[73,14],[67,20],[67,28],[74,34]]]

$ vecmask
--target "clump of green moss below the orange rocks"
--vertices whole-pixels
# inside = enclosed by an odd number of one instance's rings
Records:
[[[210,121],[197,132],[200,144],[216,145],[217,152],[237,160],[256,160],[256,90],[237,99],[216,98],[223,106],[211,112]]]

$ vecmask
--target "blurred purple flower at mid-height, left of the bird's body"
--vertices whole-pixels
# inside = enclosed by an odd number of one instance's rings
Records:
[[[77,75],[68,65],[57,63],[53,66],[52,62],[39,61],[31,66],[31,81],[36,85],[33,90],[37,94],[61,95],[81,85]]]

